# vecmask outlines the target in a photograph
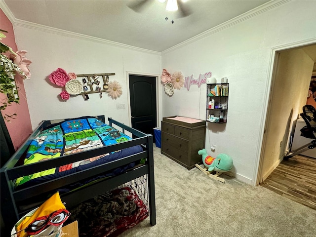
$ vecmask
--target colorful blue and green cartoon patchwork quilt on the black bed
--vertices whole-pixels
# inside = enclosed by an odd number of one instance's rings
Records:
[[[55,124],[43,130],[30,144],[24,164],[58,158],[90,149],[116,144],[131,138],[94,117],[82,117]],[[58,178],[102,163],[143,151],[141,146],[126,148],[111,154],[87,158],[60,167],[18,178],[15,188],[26,188],[43,181]],[[65,157],[67,158],[67,157]],[[135,163],[113,170],[106,176],[116,175],[132,168]]]

